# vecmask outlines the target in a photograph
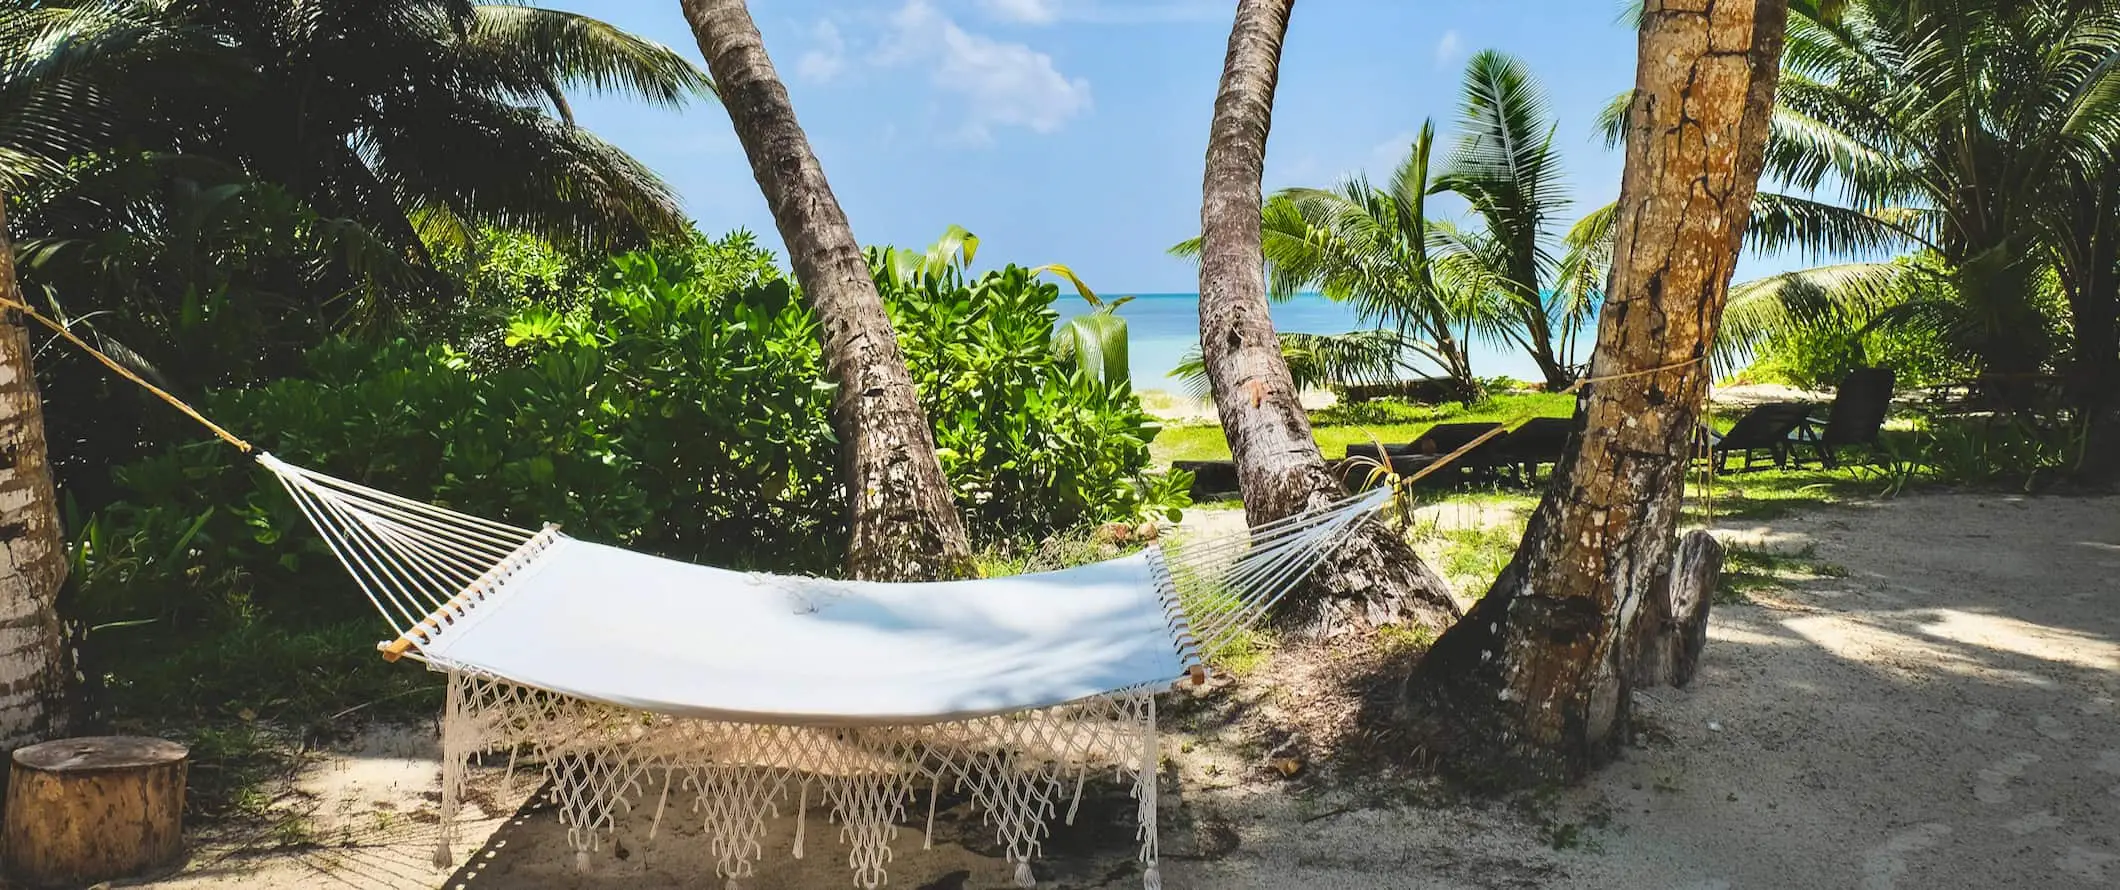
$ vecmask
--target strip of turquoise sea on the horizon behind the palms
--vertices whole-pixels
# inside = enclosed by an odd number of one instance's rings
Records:
[[[1071,292],[1062,292],[1054,307],[1060,309],[1060,318],[1090,312],[1090,305]],[[1361,324],[1346,303],[1323,295],[1295,295],[1287,303],[1274,303],[1272,314],[1274,331],[1348,333],[1374,328],[1374,324]],[[1185,384],[1170,377],[1170,369],[1177,369],[1179,360],[1200,345],[1200,295],[1136,295],[1134,301],[1119,307],[1119,316],[1126,318],[1134,388],[1181,392]],[[1514,348],[1473,343],[1471,367],[1480,377],[1539,379],[1537,364]]]

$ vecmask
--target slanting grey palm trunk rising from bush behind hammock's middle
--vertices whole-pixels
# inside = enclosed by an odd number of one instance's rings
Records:
[[[685,17],[787,242],[795,282],[818,318],[825,375],[840,386],[831,420],[852,506],[848,570],[873,581],[969,576],[971,542],[950,502],[935,430],[920,411],[854,231],[810,153],[750,11],[742,0],[685,0]]]

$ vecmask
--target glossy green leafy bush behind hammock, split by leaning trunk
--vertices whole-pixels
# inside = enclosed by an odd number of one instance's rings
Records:
[[[1147,477],[1126,381],[1054,358],[1056,288],[1020,267],[886,286],[943,464],[984,545],[1185,504]],[[634,252],[473,356],[331,341],[301,377],[204,396],[286,460],[464,513],[717,566],[831,572],[846,542],[816,322],[748,235]],[[218,443],[112,470],[76,517],[91,644],[335,627],[367,602],[269,475]],[[91,646],[95,648],[95,646]]]

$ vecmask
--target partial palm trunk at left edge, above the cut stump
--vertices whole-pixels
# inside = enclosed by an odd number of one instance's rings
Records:
[[[0,295],[21,301],[0,197]],[[66,547],[45,453],[45,405],[30,369],[30,331],[0,318],[0,750],[66,727],[66,636],[59,583]]]

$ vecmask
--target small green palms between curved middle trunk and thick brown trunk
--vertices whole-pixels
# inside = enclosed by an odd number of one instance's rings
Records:
[[[1524,350],[1550,388],[1565,388],[1605,286],[1611,210],[1556,229],[1567,184],[1552,114],[1522,61],[1473,55],[1459,127],[1439,172],[1435,127],[1423,123],[1382,186],[1355,176],[1274,195],[1261,210],[1270,292],[1317,288],[1348,301],[1465,392],[1473,337]],[[1471,225],[1429,216],[1427,197],[1444,191],[1471,203]],[[1172,248],[1198,250],[1198,239]]]

